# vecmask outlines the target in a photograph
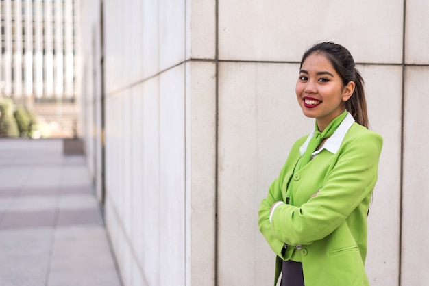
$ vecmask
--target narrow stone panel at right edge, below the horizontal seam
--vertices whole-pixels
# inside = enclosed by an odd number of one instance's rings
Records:
[[[429,150],[426,146],[429,125],[426,88],[429,68],[406,68],[404,103],[404,190],[402,196],[402,285],[425,285],[429,279],[429,236],[426,218]],[[428,247],[426,247],[428,246]],[[417,251],[416,251],[417,248]]]

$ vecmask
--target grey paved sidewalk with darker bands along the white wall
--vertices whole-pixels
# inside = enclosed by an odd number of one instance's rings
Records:
[[[0,139],[0,286],[120,286],[84,157]]]

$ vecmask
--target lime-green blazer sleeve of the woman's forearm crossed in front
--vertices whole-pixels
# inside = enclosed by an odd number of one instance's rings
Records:
[[[381,136],[369,131],[345,142],[317,196],[301,207],[284,204],[275,209],[271,235],[297,245],[311,244],[332,233],[371,194],[381,148]]]

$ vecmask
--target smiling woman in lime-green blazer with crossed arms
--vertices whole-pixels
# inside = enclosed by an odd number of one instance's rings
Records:
[[[293,145],[258,211],[277,255],[276,285],[369,285],[367,213],[382,138],[369,131],[363,79],[350,52],[323,42],[304,53],[296,88],[315,130]]]

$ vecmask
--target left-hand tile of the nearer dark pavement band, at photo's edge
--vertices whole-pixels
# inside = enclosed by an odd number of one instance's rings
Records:
[[[53,227],[56,210],[46,211],[8,211],[3,213],[0,229],[22,229],[35,227]]]

